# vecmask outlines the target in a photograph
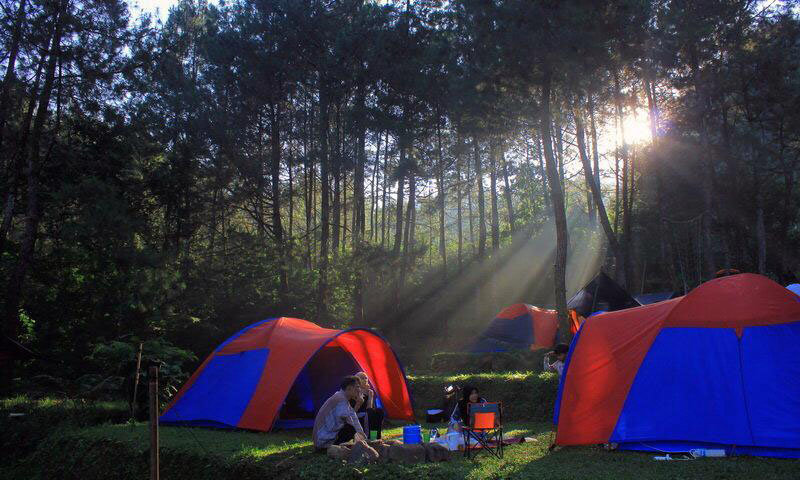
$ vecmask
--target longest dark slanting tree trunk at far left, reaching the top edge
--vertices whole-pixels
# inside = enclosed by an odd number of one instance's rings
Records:
[[[68,2],[62,0],[59,2],[57,10],[54,13],[55,27],[50,41],[45,81],[39,96],[36,119],[33,123],[33,132],[31,135],[30,150],[27,154],[25,175],[28,183],[28,205],[25,215],[25,230],[23,232],[19,257],[8,279],[5,312],[3,315],[4,321],[2,325],[3,333],[11,339],[16,339],[19,334],[19,307],[21,295],[28,269],[33,263],[33,253],[39,228],[39,171],[42,167],[42,137],[44,134],[44,124],[49,112],[50,97],[55,84],[56,66],[61,56],[61,38],[68,5]],[[10,380],[10,366],[4,373],[3,383],[7,383]],[[7,385],[3,386],[5,387]]]

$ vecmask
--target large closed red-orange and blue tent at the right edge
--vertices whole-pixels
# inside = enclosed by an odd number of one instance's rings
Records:
[[[800,457],[800,297],[755,274],[587,318],[559,386],[556,443]]]

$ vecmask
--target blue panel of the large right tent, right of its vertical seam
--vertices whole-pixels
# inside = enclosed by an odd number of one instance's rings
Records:
[[[800,322],[749,327],[742,376],[755,444],[800,449]],[[800,452],[800,450],[798,450]]]

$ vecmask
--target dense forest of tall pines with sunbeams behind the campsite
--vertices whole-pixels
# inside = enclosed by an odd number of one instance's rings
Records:
[[[457,349],[800,274],[800,18],[744,0],[0,0],[2,329],[80,373],[244,325]]]

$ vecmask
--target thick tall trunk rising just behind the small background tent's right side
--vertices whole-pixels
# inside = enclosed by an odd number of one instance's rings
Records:
[[[567,315],[566,281],[569,234],[567,231],[567,214],[564,206],[564,196],[561,192],[558,167],[556,165],[556,158],[553,155],[553,142],[550,138],[550,128],[552,128],[550,118],[550,82],[551,77],[548,68],[542,82],[542,103],[539,108],[539,122],[540,131],[542,133],[542,144],[544,145],[547,177],[550,184],[550,196],[553,200],[553,214],[556,221],[556,261],[554,265],[556,310],[558,311],[559,328],[564,332],[565,339],[567,343],[569,343],[571,330],[569,326],[569,317]]]

